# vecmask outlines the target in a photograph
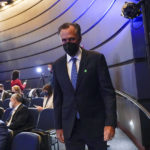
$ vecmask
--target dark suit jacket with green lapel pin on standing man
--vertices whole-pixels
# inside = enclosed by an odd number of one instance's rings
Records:
[[[56,128],[69,138],[77,111],[88,137],[99,136],[104,126],[116,126],[116,98],[105,58],[82,50],[77,86],[69,79],[66,56],[54,63],[54,111]]]

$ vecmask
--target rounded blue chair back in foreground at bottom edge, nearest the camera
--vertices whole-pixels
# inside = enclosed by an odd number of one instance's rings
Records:
[[[11,150],[40,150],[40,135],[21,132],[14,137]]]

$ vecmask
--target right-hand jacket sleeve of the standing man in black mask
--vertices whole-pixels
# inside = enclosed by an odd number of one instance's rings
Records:
[[[100,93],[105,107],[105,126],[116,127],[116,95],[112,86],[105,57],[102,54],[99,55],[97,69],[100,84]]]

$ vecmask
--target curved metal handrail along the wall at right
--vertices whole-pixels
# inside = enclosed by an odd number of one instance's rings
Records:
[[[142,112],[144,112],[144,114],[148,117],[148,119],[150,119],[150,112],[146,108],[144,108],[140,103],[138,103],[136,99],[130,97],[129,95],[127,95],[121,91],[115,90],[115,92],[117,95],[128,99],[130,102],[132,102],[134,105],[136,105]]]

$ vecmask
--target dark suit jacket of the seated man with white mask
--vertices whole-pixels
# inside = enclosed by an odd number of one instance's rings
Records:
[[[25,105],[21,104],[18,107],[8,128],[13,130],[14,134],[33,128],[33,118]]]

